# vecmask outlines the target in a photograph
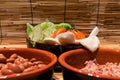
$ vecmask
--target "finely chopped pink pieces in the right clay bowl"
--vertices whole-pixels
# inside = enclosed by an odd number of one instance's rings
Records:
[[[85,62],[85,67],[80,69],[80,71],[85,71],[88,74],[94,74],[99,77],[99,75],[103,76],[111,76],[111,77],[120,77],[120,64],[107,62],[103,65],[97,63],[96,59],[89,60]]]

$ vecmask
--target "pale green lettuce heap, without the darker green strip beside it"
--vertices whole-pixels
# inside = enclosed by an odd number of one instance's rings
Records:
[[[52,22],[43,22],[41,24],[37,24],[33,28],[27,23],[27,35],[32,41],[41,42],[45,37],[51,37],[53,34],[55,27]]]

